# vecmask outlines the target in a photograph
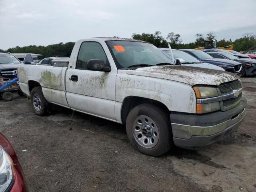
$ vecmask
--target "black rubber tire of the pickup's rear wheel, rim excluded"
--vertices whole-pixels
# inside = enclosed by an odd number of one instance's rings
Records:
[[[37,110],[36,107],[34,106],[34,96],[38,96],[40,99],[40,109]],[[46,98],[44,98],[44,94],[42,92],[42,88],[41,87],[34,87],[30,93],[30,99],[31,99],[31,103],[34,109],[34,112],[39,115],[39,116],[45,116],[49,114],[49,106],[50,103],[46,100]]]

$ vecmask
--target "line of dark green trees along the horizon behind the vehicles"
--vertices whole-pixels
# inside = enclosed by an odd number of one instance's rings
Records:
[[[175,34],[174,32],[168,33],[166,37],[163,37],[160,31],[156,31],[152,34],[151,33],[132,34],[133,39],[144,40],[154,44],[156,47],[162,47],[162,48],[168,48],[168,43],[170,43],[170,45],[174,49],[194,49],[194,48],[203,46],[204,40],[210,40],[210,39],[216,38],[214,32],[209,32],[206,35],[198,33],[195,35],[195,37],[196,37],[195,42],[183,43],[180,34]],[[24,47],[16,46],[14,48],[9,48],[6,51],[11,53],[31,52],[36,54],[42,54],[43,56],[41,58],[46,58],[51,56],[70,56],[72,49],[74,47],[74,44],[75,42],[67,42],[67,43],[60,42],[58,44],[52,44],[48,46],[36,46],[36,45],[30,45],[30,46],[24,46]],[[230,38],[229,40],[221,39],[221,40],[218,40],[217,46],[225,47],[231,44],[234,44],[234,50],[238,52],[248,50],[252,46],[256,45],[256,35],[247,33],[247,34],[243,34],[241,38],[238,38],[235,40],[232,40],[232,38]],[[4,50],[0,49],[0,51],[4,51]]]

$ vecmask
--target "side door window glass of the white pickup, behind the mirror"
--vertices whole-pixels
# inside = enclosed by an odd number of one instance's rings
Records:
[[[76,60],[76,69],[87,69],[90,59],[101,59],[106,63],[107,56],[102,46],[97,42],[83,42]]]

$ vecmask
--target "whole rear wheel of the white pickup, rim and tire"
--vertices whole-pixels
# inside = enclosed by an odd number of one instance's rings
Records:
[[[44,98],[41,87],[34,87],[31,91],[31,102],[34,112],[37,115],[44,116],[49,112],[49,102]]]

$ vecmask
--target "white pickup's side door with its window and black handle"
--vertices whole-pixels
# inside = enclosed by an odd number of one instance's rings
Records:
[[[77,111],[115,121],[116,70],[110,72],[87,69],[90,59],[108,63],[108,58],[98,42],[83,42],[78,52],[75,68],[66,73],[66,98],[68,105]]]

